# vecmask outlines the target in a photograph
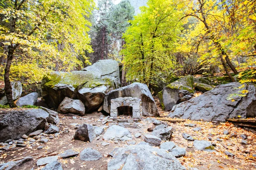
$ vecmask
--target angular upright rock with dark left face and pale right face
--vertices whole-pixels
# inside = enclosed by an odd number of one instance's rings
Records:
[[[81,140],[84,142],[92,142],[96,138],[96,134],[93,130],[93,125],[83,124],[81,125],[75,133],[74,139]]]

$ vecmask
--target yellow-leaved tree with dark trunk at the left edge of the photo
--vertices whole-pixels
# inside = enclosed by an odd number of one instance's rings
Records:
[[[0,3],[0,51],[4,67],[5,92],[15,107],[10,83],[11,65],[18,76],[30,73],[34,80],[46,71],[70,71],[81,62],[76,58],[92,51],[85,19],[93,10],[93,0],[2,0]],[[61,44],[61,45],[60,45]],[[40,76],[38,75],[39,70]],[[33,71],[35,71],[33,73]],[[12,73],[12,72],[11,72]]]

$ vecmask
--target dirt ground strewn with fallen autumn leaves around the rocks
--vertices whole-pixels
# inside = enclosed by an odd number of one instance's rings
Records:
[[[160,107],[159,102],[157,101],[158,107]],[[164,117],[168,112],[162,111],[159,108],[160,116]],[[77,119],[73,119],[73,116],[76,116]],[[50,153],[49,155],[56,155],[62,153],[64,150],[73,149],[79,153],[86,147],[91,147],[98,150],[102,153],[103,158],[98,161],[81,161],[79,155],[76,157],[58,159],[61,162],[63,170],[107,170],[108,162],[111,160],[111,157],[108,156],[114,147],[125,147],[127,146],[126,142],[114,143],[108,141],[110,144],[107,146],[102,146],[102,142],[105,142],[102,139],[102,136],[99,140],[94,139],[93,142],[82,142],[79,140],[73,140],[75,134],[75,125],[76,124],[94,124],[97,126],[102,126],[101,122],[97,122],[99,119],[100,113],[87,114],[86,116],[80,117],[77,115],[63,115],[59,114],[61,120],[59,128],[60,135],[54,139],[49,139],[49,142],[42,144],[40,142],[35,142],[36,146],[32,147],[27,145],[26,147],[16,147],[15,150],[5,151],[0,150],[0,164],[3,162],[8,162],[13,159],[20,157],[30,156],[32,154],[38,153],[37,156],[33,157],[33,161],[26,162],[23,164],[19,170],[40,170],[43,168],[37,167],[36,161],[39,157],[44,154]],[[85,118],[85,119],[83,119]],[[105,124],[109,126],[111,124],[116,124],[117,122],[108,122]],[[187,127],[185,124],[196,124],[196,127],[202,127],[202,130],[196,132],[192,129],[194,127]],[[132,124],[132,123],[131,123]],[[169,126],[174,128],[172,133],[171,141],[174,142],[179,147],[186,148],[186,156],[177,158],[181,164],[183,164],[188,170],[189,167],[196,167],[199,170],[255,170],[256,169],[256,157],[253,157],[253,154],[256,154],[256,134],[245,130],[241,127],[236,127],[231,123],[219,123],[215,124],[212,122],[202,122],[202,121],[191,121],[185,120],[185,122],[180,123],[168,123]],[[148,127],[151,127],[152,124],[149,124],[145,121],[140,121],[136,124],[140,128],[128,128],[133,135],[133,141],[137,143],[143,141],[143,136],[149,134],[147,131]],[[106,131],[107,129],[105,129]],[[223,131],[229,130],[229,135],[224,135]],[[134,134],[140,132],[142,136],[140,138],[135,138]],[[215,151],[198,151],[194,150],[193,142],[188,141],[182,137],[182,133],[188,133],[195,139],[207,140],[209,141],[209,133],[212,134],[212,141],[216,144]],[[229,138],[231,133],[236,133],[237,138]],[[241,144],[242,138],[241,134],[247,135],[247,145]],[[49,136],[48,136],[49,137]],[[48,138],[47,137],[47,138]],[[223,140],[222,143],[227,146],[228,149],[225,149],[224,146],[216,141],[215,139]],[[43,146],[44,148],[38,150],[38,146]],[[190,148],[191,147],[191,148]],[[234,157],[228,157],[224,153],[229,151],[230,153],[235,154]],[[51,153],[52,152],[52,153]],[[49,156],[48,155],[48,156]]]

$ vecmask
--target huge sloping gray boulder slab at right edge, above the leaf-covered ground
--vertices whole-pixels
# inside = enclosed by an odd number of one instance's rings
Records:
[[[168,116],[221,122],[228,118],[237,118],[237,116],[241,116],[241,118],[255,117],[256,88],[254,85],[247,87],[249,93],[246,96],[236,96],[233,101],[227,100],[230,94],[239,94],[239,91],[242,90],[238,89],[240,86],[239,82],[218,85],[201,96],[175,105]]]

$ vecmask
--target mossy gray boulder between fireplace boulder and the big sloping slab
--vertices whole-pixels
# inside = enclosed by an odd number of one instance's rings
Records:
[[[166,85],[163,91],[160,91],[157,95],[162,108],[165,111],[170,111],[174,105],[191,99],[194,91],[193,76],[185,76]]]

